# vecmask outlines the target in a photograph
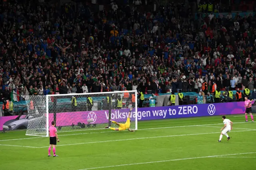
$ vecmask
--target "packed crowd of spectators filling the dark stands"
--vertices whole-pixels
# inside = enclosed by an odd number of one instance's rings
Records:
[[[2,98],[256,87],[256,16],[125,2],[111,0],[101,11],[82,3],[1,4]]]

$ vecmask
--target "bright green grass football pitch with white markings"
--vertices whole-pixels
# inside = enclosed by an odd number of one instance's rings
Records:
[[[255,170],[256,123],[245,123],[244,115],[227,119],[234,123],[232,138],[223,135],[221,142],[221,116],[139,121],[136,132],[61,132],[59,157],[48,157],[48,137],[0,133],[0,169]]]

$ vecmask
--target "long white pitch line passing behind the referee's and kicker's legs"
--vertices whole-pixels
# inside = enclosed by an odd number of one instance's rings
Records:
[[[232,132],[245,132],[245,131],[254,131],[254,130],[239,130],[239,131],[232,131]],[[200,134],[216,134],[220,132],[211,132],[211,133],[196,133],[196,134],[177,134],[177,135],[168,135],[168,136],[152,136],[152,137],[144,137],[144,138],[128,138],[128,139],[118,139],[118,140],[105,140],[105,141],[98,141],[98,142],[84,142],[84,143],[74,143],[74,144],[62,144],[57,145],[59,146],[70,146],[70,145],[78,145],[78,144],[93,144],[93,143],[105,143],[105,142],[119,142],[124,140],[138,140],[138,139],[152,139],[152,138],[166,138],[166,137],[174,137],[174,136],[192,136],[192,135],[200,135]],[[42,146],[37,148],[47,148],[49,146]]]

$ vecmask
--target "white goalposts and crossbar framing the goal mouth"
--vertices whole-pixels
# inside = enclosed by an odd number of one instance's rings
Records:
[[[79,96],[79,95],[97,95],[97,94],[115,94],[115,93],[135,93],[135,129],[138,130],[138,95],[136,90],[130,90],[130,91],[111,91],[111,92],[97,92],[97,93],[69,93],[69,94],[54,94],[54,95],[46,95],[46,137],[49,137],[49,98],[50,97],[56,97],[56,96]],[[104,129],[104,128],[102,128]],[[90,130],[100,130],[100,129],[90,129]],[[35,136],[35,135],[32,135]]]

